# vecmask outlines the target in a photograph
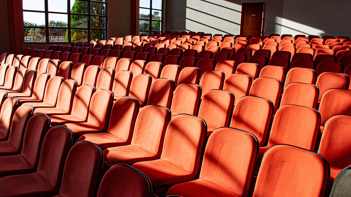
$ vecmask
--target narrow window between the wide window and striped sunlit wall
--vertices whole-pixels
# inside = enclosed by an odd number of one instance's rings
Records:
[[[163,0],[139,1],[139,34],[162,31]]]

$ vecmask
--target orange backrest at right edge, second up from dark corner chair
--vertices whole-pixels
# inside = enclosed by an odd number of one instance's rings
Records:
[[[329,89],[325,91],[320,100],[319,113],[321,116],[320,125],[332,116],[343,114],[351,115],[351,91],[343,89]]]

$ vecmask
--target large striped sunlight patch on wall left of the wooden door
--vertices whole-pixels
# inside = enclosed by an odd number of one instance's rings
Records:
[[[225,0],[187,0],[186,30],[240,34],[241,5]]]

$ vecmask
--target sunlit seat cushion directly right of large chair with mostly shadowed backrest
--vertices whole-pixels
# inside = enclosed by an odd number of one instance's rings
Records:
[[[111,165],[118,163],[132,165],[133,163],[155,159],[159,159],[159,157],[132,144],[104,150],[104,161]]]

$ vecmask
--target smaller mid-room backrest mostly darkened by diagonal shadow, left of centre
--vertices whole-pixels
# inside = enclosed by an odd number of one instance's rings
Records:
[[[157,79],[150,87],[147,104],[155,104],[170,108],[173,95],[174,81],[171,79]]]

